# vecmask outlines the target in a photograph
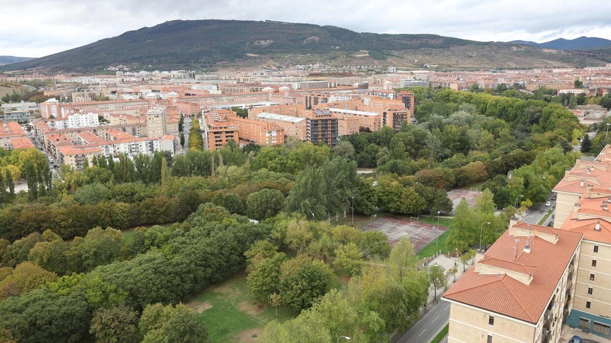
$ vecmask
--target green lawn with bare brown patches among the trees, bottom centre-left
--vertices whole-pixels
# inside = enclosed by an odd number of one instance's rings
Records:
[[[248,294],[246,273],[238,273],[219,284],[183,299],[200,312],[213,342],[252,342],[271,320],[284,322],[297,316],[288,306],[261,303]]]

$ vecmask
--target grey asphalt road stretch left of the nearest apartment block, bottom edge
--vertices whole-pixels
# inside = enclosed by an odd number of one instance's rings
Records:
[[[450,319],[450,303],[442,300],[409,329],[398,343],[428,343]],[[447,341],[445,341],[447,342]]]

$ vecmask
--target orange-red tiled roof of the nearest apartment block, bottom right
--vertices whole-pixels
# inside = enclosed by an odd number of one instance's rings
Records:
[[[514,225],[516,228],[524,226],[525,223],[519,222]],[[543,232],[543,227],[539,225],[525,227]],[[546,230],[546,233],[558,236],[557,242],[554,244],[533,236],[530,253],[525,253],[523,249],[527,238],[511,236],[508,229],[481,260],[486,265],[499,268],[499,274],[475,272],[475,266],[472,266],[445,292],[444,298],[525,322],[538,322],[582,239],[581,233],[553,228]],[[520,240],[517,254],[516,238]],[[523,283],[500,269],[529,272],[532,280],[529,284]]]

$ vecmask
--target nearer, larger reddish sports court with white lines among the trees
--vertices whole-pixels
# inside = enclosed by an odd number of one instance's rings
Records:
[[[415,217],[404,219],[392,215],[382,215],[382,217],[368,223],[363,228],[363,231],[371,230],[385,233],[393,247],[401,237],[408,237],[414,245],[414,251],[418,252],[437,236],[444,233],[447,228],[440,226],[439,231],[437,231],[436,225],[420,222]]]

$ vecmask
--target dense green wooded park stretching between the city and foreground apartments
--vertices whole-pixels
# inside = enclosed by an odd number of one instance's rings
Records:
[[[517,210],[542,201],[585,130],[552,101],[413,91],[417,124],[335,147],[230,141],[211,152],[193,120],[184,154],[96,157],[54,178],[37,151],[0,150],[1,340],[232,339],[240,332],[219,324],[219,309],[191,306],[220,308],[228,300],[214,287],[229,281],[263,308],[235,312],[236,328],[258,325],[263,341],[386,341],[405,330],[451,271],[420,269],[408,240],[390,247],[350,226],[350,212],[453,211],[439,249],[467,264],[480,232],[486,247],[507,228],[517,195]],[[10,188],[17,179],[27,192]],[[475,206],[453,209],[447,190],[472,185],[483,190]]]

